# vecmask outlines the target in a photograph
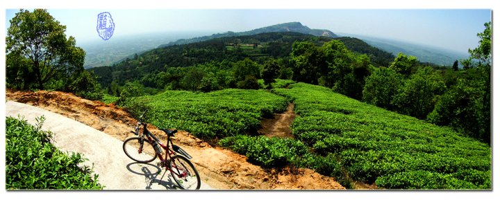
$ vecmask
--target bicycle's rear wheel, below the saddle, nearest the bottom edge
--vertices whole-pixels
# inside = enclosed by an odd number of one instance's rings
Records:
[[[200,177],[194,165],[183,156],[174,156],[170,160],[172,177],[179,187],[185,190],[198,190],[201,186]]]

